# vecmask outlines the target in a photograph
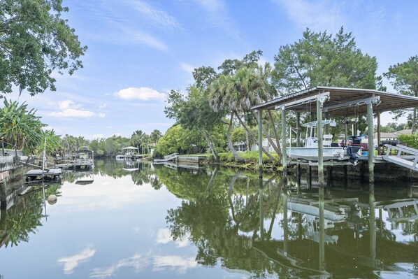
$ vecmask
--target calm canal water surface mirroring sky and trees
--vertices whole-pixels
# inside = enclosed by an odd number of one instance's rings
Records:
[[[418,277],[417,188],[304,182],[96,160],[11,196],[0,278]]]

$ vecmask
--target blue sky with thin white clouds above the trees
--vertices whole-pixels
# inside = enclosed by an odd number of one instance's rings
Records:
[[[418,54],[418,1],[332,0],[64,0],[65,17],[88,50],[84,68],[57,78],[57,91],[19,101],[36,108],[57,134],[130,137],[163,134],[169,90],[186,91],[192,70],[262,50],[271,62],[281,45],[309,27],[351,31],[363,53],[377,57],[378,74]],[[384,79],[389,92],[394,92]],[[17,99],[17,93],[6,96]],[[389,115],[382,124],[394,122]]]

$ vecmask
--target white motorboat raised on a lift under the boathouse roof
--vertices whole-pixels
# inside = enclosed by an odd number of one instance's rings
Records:
[[[322,120],[322,127],[329,125],[336,127],[335,120]],[[287,156],[291,159],[298,159],[308,162],[318,161],[318,138],[316,136],[318,122],[312,121],[303,124],[306,128],[305,146],[302,148],[289,147],[286,148]],[[324,161],[330,160],[350,160],[353,163],[358,158],[357,152],[361,149],[359,146],[340,146],[338,143],[333,143],[333,136],[331,134],[324,134],[322,141],[322,150]]]

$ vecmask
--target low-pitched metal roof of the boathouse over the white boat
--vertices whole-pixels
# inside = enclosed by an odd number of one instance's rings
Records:
[[[316,112],[316,104],[312,103],[312,99],[310,99],[310,97],[312,98],[315,97],[315,95],[326,92],[329,93],[329,97],[324,102],[324,108],[333,107],[332,110],[329,110],[330,115],[348,116],[357,113],[365,115],[367,113],[366,106],[358,105],[361,104],[362,101],[366,101],[372,97],[379,98],[377,106],[373,107],[374,113],[418,107],[418,97],[414,96],[382,92],[378,90],[317,86],[293,94],[281,96],[265,103],[260,103],[257,106],[253,106],[252,110],[273,110],[280,106],[285,106],[288,103],[293,103],[289,109],[296,112]],[[345,104],[346,106],[344,106]]]

